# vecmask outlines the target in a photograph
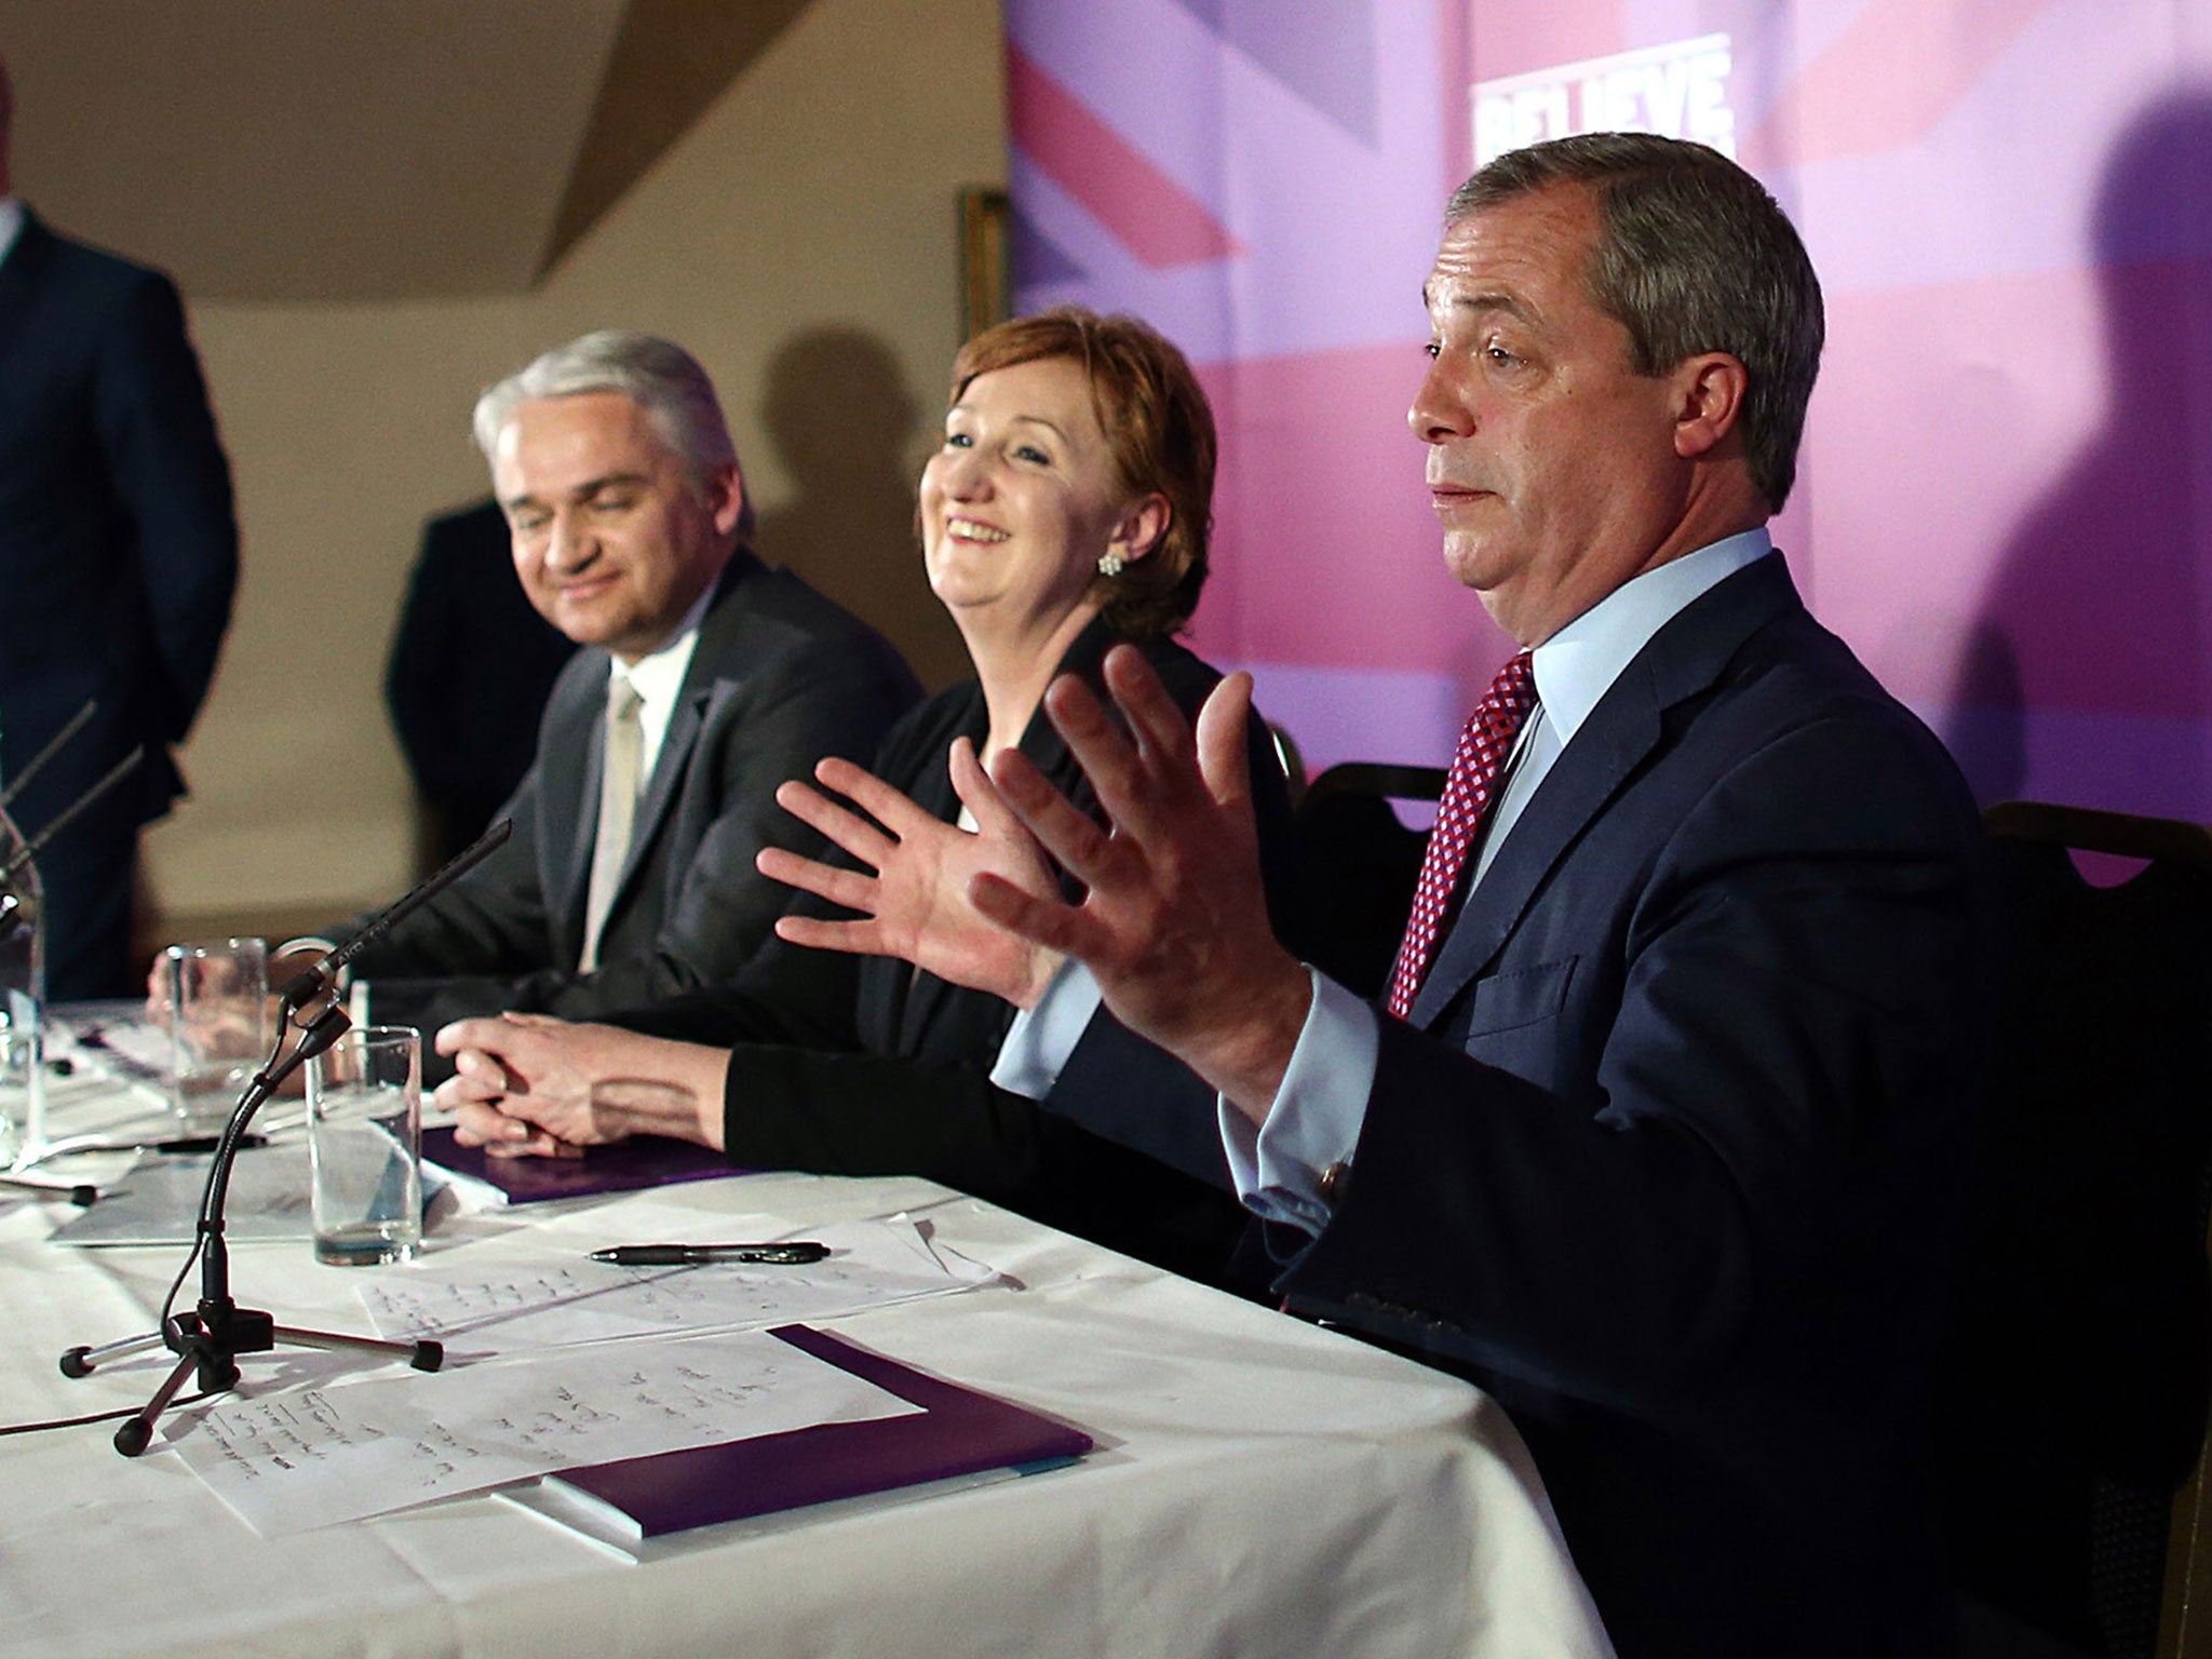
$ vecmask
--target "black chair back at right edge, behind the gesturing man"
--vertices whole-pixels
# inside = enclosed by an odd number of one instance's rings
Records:
[[[2148,1659],[2212,1396],[2212,834],[2033,803],[1986,823],[2011,931],[1936,1425],[1953,1582]],[[2070,849],[2148,863],[2093,887]]]

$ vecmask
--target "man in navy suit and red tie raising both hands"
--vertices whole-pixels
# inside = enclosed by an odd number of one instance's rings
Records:
[[[1088,982],[1217,1091],[1290,1303],[1511,1409],[1621,1655],[1938,1650],[1916,1418],[1989,896],[1949,757],[1767,542],[1812,265],[1721,155],[1588,135],[1462,186],[1427,305],[1444,562],[1524,655],[1453,765],[1389,1009],[1267,931],[1250,684],[1192,737],[1119,655],[1135,741],[1079,686],[1046,703],[1110,836],[995,768],[1088,887],[969,887],[1082,964],[1002,1073]],[[1113,1029],[1024,1062],[1106,1133],[1139,1075]]]

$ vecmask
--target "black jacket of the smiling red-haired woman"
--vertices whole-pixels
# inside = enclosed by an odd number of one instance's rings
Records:
[[[1060,664],[1099,688],[1115,635],[1093,624]],[[1139,646],[1194,714],[1221,675],[1172,639]],[[876,776],[951,823],[960,814],[945,757],[956,737],[982,745],[982,688],[953,686],[885,739]],[[1051,721],[1022,732],[1035,761],[1082,810],[1095,796]],[[1263,745],[1252,761],[1270,865],[1281,865],[1290,803]],[[816,914],[834,914],[807,902]],[[723,1135],[741,1168],[825,1175],[927,1175],[1048,1225],[1197,1279],[1223,1279],[1245,1230],[1219,1141],[1210,1166],[1179,1170],[1091,1135],[991,1084],[1013,1009],[896,958],[852,958],[770,940],[741,980],[622,1024],[734,1044]]]

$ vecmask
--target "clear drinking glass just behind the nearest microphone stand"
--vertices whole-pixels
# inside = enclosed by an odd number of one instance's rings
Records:
[[[422,1035],[347,1031],[307,1062],[314,1259],[407,1261],[422,1243]]]

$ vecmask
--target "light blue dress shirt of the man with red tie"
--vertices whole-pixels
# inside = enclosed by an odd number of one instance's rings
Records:
[[[1513,834],[1544,774],[1650,637],[1708,588],[1772,551],[1765,529],[1701,546],[1621,584],[1531,653],[1537,708],[1522,726],[1504,792],[1484,821],[1473,883]],[[1387,1015],[1325,973],[1312,971],[1312,978],[1314,1002],[1265,1126],[1254,1126],[1228,1102],[1219,1113],[1230,1175],[1245,1206],[1267,1221],[1321,1232],[1329,1219],[1321,1175],[1358,1146],[1376,1075],[1376,1022]],[[1097,982],[1079,962],[1066,964],[1037,1006],[1015,1018],[991,1079],[1044,1099],[1097,1006]]]

